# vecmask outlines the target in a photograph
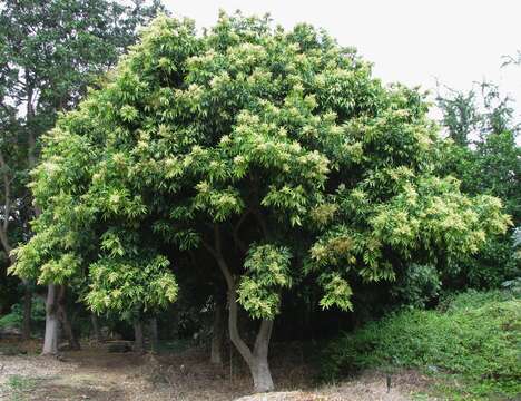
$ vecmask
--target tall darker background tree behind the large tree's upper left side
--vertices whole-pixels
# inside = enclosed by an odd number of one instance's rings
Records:
[[[135,42],[136,29],[158,10],[157,1],[0,1],[0,239],[7,255],[27,239],[28,219],[39,214],[26,184],[37,164],[41,134],[53,126],[59,111],[77,105],[87,85],[116,63]],[[55,299],[53,286],[49,290]],[[30,300],[27,286],[26,338]]]

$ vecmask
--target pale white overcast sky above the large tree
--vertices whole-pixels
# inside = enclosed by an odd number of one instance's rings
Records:
[[[521,67],[501,68],[521,50],[521,0],[165,0],[177,17],[210,27],[219,9],[269,12],[287,29],[325,28],[342,46],[374,62],[375,76],[435,88],[435,79],[469,89],[483,78],[501,85],[521,110]]]

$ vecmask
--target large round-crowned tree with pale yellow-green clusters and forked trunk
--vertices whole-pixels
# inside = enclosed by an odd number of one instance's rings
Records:
[[[222,14],[197,36],[189,20],[159,18],[46,136],[32,183],[42,214],[13,271],[53,284],[85,276],[94,310],[144,311],[176,299],[169,255],[205,254],[255,390],[272,390],[283,292],[314,277],[322,307],[351,310],[353,277],[443,266],[507,228],[499,199],[433,174],[426,111],[416,90],[383,87],[307,25],[286,32]],[[240,306],[258,321],[253,344]]]

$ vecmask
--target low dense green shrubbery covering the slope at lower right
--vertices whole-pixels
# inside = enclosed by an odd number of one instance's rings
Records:
[[[443,310],[403,310],[333,341],[326,379],[367,368],[416,368],[461,375],[465,391],[521,393],[521,300],[514,292],[466,292]]]

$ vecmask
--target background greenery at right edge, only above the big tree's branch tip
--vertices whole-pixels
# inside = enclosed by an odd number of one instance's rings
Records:
[[[439,95],[443,124],[455,146],[443,148],[443,168],[470,194],[491,194],[505,203],[514,226],[521,222],[521,148],[511,100],[491,84],[481,91]],[[470,117],[471,115],[472,117]]]

